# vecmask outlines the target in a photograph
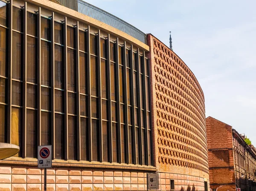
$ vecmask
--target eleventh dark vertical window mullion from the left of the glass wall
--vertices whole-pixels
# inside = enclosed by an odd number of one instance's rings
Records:
[[[127,96],[127,63],[126,63],[126,42],[124,42],[124,51],[123,51],[123,57],[124,57],[124,89],[125,89],[125,145],[126,145],[126,163],[129,163],[129,125],[128,125],[128,96]]]

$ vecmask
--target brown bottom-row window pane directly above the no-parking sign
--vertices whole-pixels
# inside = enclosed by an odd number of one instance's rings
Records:
[[[41,145],[51,145],[51,113],[41,111]]]

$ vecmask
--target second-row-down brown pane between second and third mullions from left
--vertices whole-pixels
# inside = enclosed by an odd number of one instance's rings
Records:
[[[36,83],[37,43],[36,38],[27,36],[27,81]]]

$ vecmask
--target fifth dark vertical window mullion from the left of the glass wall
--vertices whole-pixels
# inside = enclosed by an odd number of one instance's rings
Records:
[[[64,19],[64,81],[65,81],[65,90],[64,90],[64,113],[65,113],[65,150],[66,156],[65,159],[68,160],[68,114],[67,114],[67,107],[68,107],[68,92],[67,92],[67,17]]]

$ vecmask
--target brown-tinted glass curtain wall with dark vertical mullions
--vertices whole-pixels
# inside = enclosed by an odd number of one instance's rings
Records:
[[[145,53],[26,3],[0,10],[0,142],[16,157],[52,145],[58,160],[152,165]]]

